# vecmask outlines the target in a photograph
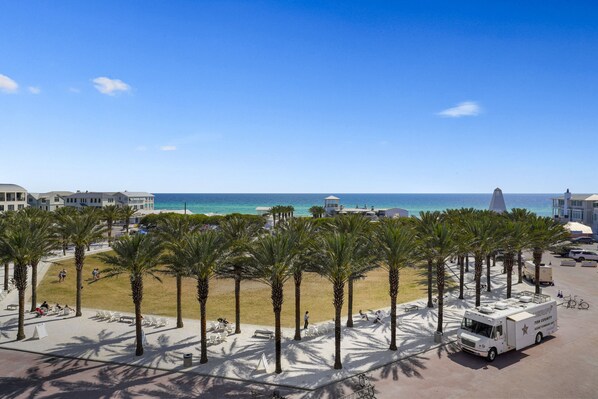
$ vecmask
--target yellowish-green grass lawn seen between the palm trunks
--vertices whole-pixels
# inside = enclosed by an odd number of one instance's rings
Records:
[[[83,269],[83,307],[103,310],[118,310],[133,313],[131,288],[128,276],[122,275],[111,279],[101,279],[93,284],[91,271],[102,270],[105,266],[96,257],[86,258]],[[66,281],[58,282],[58,272],[67,270]],[[408,302],[426,296],[423,269],[408,268],[401,272],[399,302]],[[75,304],[76,270],[73,260],[67,260],[50,266],[45,278],[39,285],[38,300],[50,304]],[[449,280],[447,279],[447,282]],[[376,310],[390,306],[388,296],[388,274],[379,269],[370,272],[366,279],[355,282],[353,310]],[[293,281],[289,281],[284,289],[282,325],[294,326],[295,295]],[[199,318],[199,304],[196,299],[196,285],[191,278],[183,280],[183,317]],[[346,304],[346,290],[345,290]],[[234,283],[230,279],[213,279],[210,281],[210,294],[207,304],[208,320],[225,317],[234,321]],[[332,286],[313,273],[306,273],[301,285],[302,313],[309,310],[310,321],[330,320],[334,316],[332,306]],[[172,277],[164,276],[162,283],[154,279],[144,281],[142,312],[146,315],[176,316],[176,285]],[[346,306],[343,314],[346,314]],[[274,314],[270,300],[270,288],[264,284],[243,281],[241,283],[241,322],[273,325]]]

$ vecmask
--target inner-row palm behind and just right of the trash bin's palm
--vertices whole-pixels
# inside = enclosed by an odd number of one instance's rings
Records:
[[[241,333],[241,281],[247,276],[249,246],[262,229],[262,223],[233,216],[220,225],[225,239],[230,244],[230,256],[223,265],[220,275],[235,281],[235,334]]]

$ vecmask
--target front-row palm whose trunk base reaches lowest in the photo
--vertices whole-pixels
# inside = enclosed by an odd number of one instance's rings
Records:
[[[291,278],[297,257],[296,242],[292,235],[280,231],[258,238],[251,247],[250,276],[271,289],[274,311],[274,345],[277,374],[282,373],[280,313],[283,304],[283,287]]]

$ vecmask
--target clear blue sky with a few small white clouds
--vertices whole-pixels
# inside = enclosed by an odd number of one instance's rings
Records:
[[[598,3],[0,3],[0,182],[597,192]]]

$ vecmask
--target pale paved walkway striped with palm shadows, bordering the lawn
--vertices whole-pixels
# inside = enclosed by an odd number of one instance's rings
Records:
[[[494,301],[504,296],[505,275],[500,274],[502,266],[492,268],[493,282],[496,288],[492,293],[484,293],[484,301]],[[470,272],[470,275],[472,272]],[[41,275],[41,273],[40,273]],[[468,277],[471,278],[470,276]],[[41,279],[40,279],[41,280]],[[528,289],[529,287],[525,287]],[[454,339],[464,310],[471,306],[472,300],[461,301],[449,294],[445,299],[445,337],[444,341]],[[9,303],[6,300],[3,304]],[[445,347],[434,343],[437,313],[425,308],[425,301],[413,302],[418,310],[405,312],[399,306],[397,352],[388,350],[389,323],[373,324],[371,321],[358,320],[352,329],[343,329],[342,370],[334,370],[334,336],[329,331],[312,338],[297,342],[292,340],[293,330],[283,329],[282,357],[283,373],[272,373],[274,364],[274,341],[267,338],[253,337],[256,329],[271,328],[264,326],[243,325],[243,332],[231,335],[226,342],[208,347],[209,362],[200,365],[199,360],[199,322],[185,320],[182,329],[173,328],[174,320],[169,320],[165,327],[146,327],[148,345],[142,357],[134,356],[134,327],[128,323],[108,322],[96,318],[96,310],[84,309],[83,317],[48,316],[35,318],[26,316],[25,334],[33,335],[35,326],[44,323],[49,336],[47,338],[26,339],[17,342],[16,311],[0,311],[0,347],[6,349],[30,351],[65,359],[108,362],[110,364],[141,366],[160,372],[192,373],[206,377],[215,377],[223,381],[251,381],[267,387],[280,389],[288,397],[337,397],[352,392],[356,374],[380,372],[388,364],[398,364],[404,359],[403,373],[417,374],[421,367],[419,356],[434,351],[442,353]],[[2,306],[5,307],[5,306]],[[326,323],[324,323],[326,324]],[[183,369],[182,357],[186,353],[194,356],[191,367]],[[261,356],[265,355],[270,363],[270,372],[257,370]],[[66,360],[65,360],[66,361]],[[69,360],[70,361],[70,360]],[[386,366],[386,367],[385,367]],[[340,382],[340,383],[339,383]],[[272,387],[272,388],[268,388]],[[247,393],[247,392],[245,392]]]

